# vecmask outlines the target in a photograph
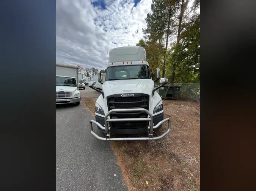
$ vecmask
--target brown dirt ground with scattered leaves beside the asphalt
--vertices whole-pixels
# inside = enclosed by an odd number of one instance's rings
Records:
[[[96,98],[82,99],[94,115]],[[113,141],[129,191],[200,190],[200,105],[163,100],[171,131],[157,141]],[[156,134],[167,130],[165,123]]]

